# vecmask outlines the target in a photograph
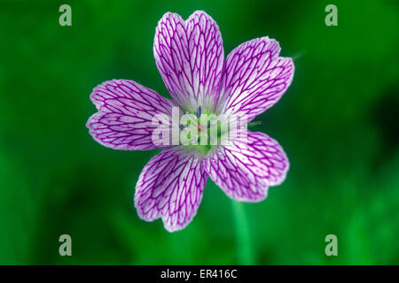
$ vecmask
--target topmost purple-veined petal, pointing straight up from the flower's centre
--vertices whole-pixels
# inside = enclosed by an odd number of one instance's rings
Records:
[[[153,54],[170,95],[184,110],[215,109],[223,69],[222,34],[205,11],[189,19],[168,12],[156,27]],[[216,96],[216,97],[215,97]]]

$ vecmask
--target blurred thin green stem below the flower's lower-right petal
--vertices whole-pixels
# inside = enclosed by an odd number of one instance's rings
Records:
[[[236,223],[237,254],[241,265],[254,264],[254,253],[252,250],[249,225],[246,219],[244,204],[232,201],[234,222]]]

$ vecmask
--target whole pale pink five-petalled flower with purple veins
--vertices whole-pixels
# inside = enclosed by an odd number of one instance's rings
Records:
[[[167,12],[156,27],[153,54],[169,100],[132,80],[109,80],[93,89],[98,112],[87,127],[100,144],[121,150],[163,149],[145,165],[134,197],[138,216],[162,218],[169,232],[184,229],[197,213],[208,176],[223,192],[241,202],[260,202],[270,186],[286,179],[289,163],[275,140],[239,126],[222,145],[153,142],[155,116],[171,118],[174,109],[194,115],[245,117],[250,122],[283,96],[293,80],[293,60],[278,57],[280,47],[269,37],[242,43],[224,61],[222,34],[204,11],[189,19]],[[173,119],[172,119],[173,120]],[[173,126],[173,122],[168,124]],[[192,128],[192,127],[191,127]],[[223,135],[216,128],[218,138]]]

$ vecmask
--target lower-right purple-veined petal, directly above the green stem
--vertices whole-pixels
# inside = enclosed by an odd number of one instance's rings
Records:
[[[250,131],[219,147],[206,160],[209,177],[226,195],[241,202],[265,199],[268,187],[286,179],[288,168],[288,158],[278,142]]]

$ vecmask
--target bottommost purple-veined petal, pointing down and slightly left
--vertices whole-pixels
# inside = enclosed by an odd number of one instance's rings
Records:
[[[169,232],[184,229],[200,206],[207,184],[203,160],[192,151],[164,149],[145,165],[135,194],[139,218],[162,218]]]

